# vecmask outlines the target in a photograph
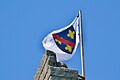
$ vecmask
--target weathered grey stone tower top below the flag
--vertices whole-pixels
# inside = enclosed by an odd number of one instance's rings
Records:
[[[56,61],[55,53],[46,51],[34,76],[34,80],[84,80],[77,70],[67,68],[63,62]]]

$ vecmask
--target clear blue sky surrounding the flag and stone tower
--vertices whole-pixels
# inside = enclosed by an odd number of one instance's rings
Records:
[[[80,9],[87,80],[120,80],[120,0],[0,0],[0,80],[33,80],[42,40]],[[81,73],[79,51],[65,63]]]

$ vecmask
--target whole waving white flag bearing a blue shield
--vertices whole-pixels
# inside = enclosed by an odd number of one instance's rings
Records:
[[[70,59],[79,43],[78,17],[70,25],[49,33],[42,43],[46,50],[56,54],[58,62]]]

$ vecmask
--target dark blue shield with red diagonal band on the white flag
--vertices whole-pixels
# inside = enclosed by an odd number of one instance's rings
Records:
[[[76,44],[76,32],[73,25],[62,32],[52,34],[52,36],[59,49],[68,54],[72,54]]]

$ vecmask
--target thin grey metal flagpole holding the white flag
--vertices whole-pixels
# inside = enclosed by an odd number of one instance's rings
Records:
[[[82,76],[85,78],[84,46],[83,46],[83,34],[82,34],[82,11],[79,11],[79,18],[80,18],[81,68],[82,68]]]

